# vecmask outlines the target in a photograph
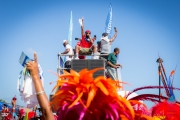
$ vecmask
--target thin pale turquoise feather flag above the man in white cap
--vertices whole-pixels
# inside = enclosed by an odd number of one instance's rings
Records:
[[[69,34],[68,34],[68,42],[71,46],[72,46],[72,31],[73,31],[73,18],[71,11],[70,20],[69,20]]]

